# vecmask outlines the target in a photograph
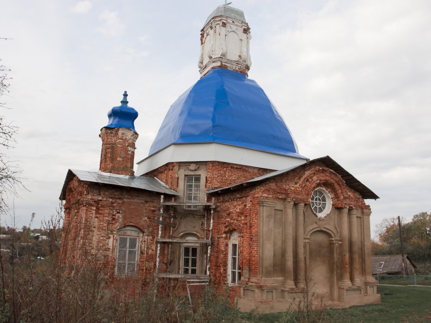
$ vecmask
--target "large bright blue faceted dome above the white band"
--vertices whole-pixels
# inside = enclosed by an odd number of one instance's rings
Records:
[[[305,158],[262,88],[225,68],[212,69],[172,104],[150,155],[171,144],[207,142]]]

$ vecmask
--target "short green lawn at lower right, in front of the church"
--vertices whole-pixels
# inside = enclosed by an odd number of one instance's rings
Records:
[[[381,304],[331,309],[325,322],[431,322],[431,288],[378,286]],[[288,322],[283,313],[244,313],[248,322]]]

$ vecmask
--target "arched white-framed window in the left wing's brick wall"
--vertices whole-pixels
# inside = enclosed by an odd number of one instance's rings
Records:
[[[126,226],[118,230],[117,275],[134,275],[136,273],[141,235],[141,231],[133,226]]]

